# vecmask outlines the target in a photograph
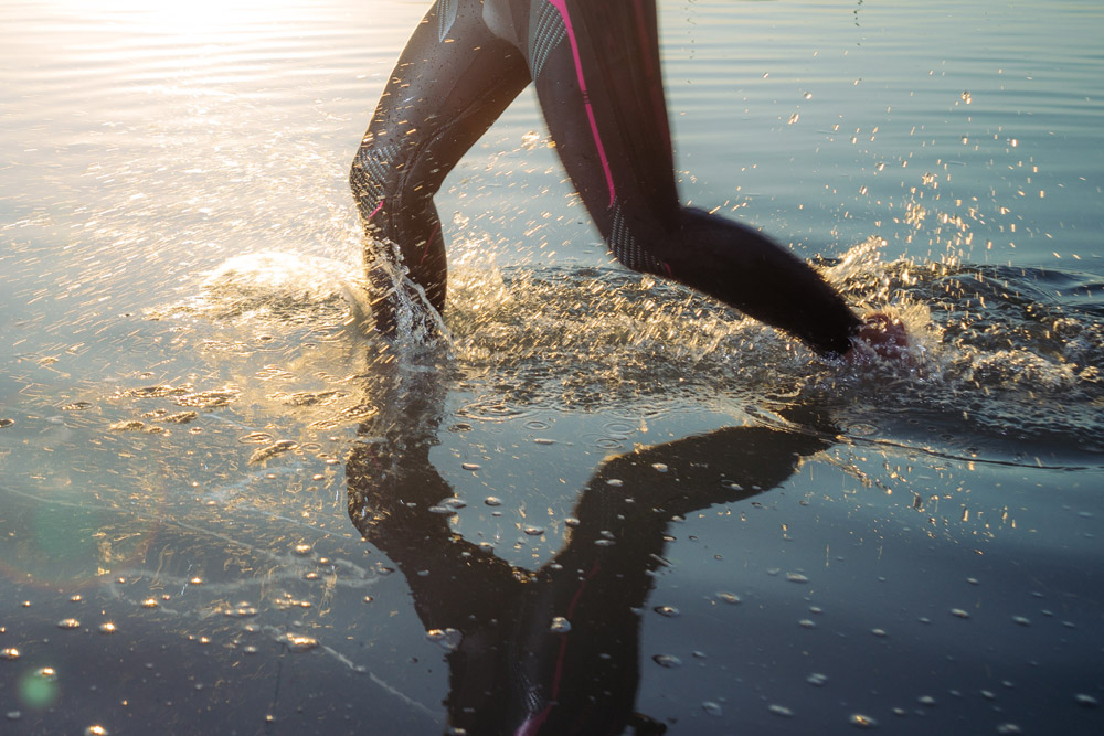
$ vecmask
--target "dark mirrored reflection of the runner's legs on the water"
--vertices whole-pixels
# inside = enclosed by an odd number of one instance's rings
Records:
[[[607,460],[582,489],[566,546],[530,572],[455,533],[439,505],[453,497],[429,461],[443,367],[376,376],[385,409],[361,427],[347,472],[353,523],[403,572],[426,630],[452,647],[450,726],[480,736],[664,733],[634,703],[639,612],[665,564],[668,524],[778,486],[831,435],[726,428]],[[554,630],[558,617],[569,630]]]

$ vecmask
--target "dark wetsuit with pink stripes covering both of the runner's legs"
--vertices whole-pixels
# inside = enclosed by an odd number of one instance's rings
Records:
[[[433,195],[533,83],[572,182],[625,266],[670,278],[842,354],[860,321],[805,262],[679,203],[655,0],[437,0],[392,73],[350,177],[369,241],[438,311]],[[368,254],[373,268],[380,253]]]

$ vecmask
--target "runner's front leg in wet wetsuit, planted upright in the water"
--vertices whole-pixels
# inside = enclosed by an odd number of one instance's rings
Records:
[[[370,239],[365,265],[373,286],[393,287],[378,259],[397,258],[438,311],[445,306],[447,267],[433,195],[529,83],[521,54],[490,33],[481,8],[475,0],[450,0],[426,14],[392,73],[350,173]],[[393,299],[384,303],[385,330],[394,306]]]

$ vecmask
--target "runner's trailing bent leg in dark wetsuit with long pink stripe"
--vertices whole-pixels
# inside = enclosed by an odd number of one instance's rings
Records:
[[[539,0],[562,41],[530,67],[556,150],[614,255],[843,353],[858,319],[807,264],[735,222],[682,207],[655,0]],[[530,35],[539,29],[530,24]],[[532,44],[531,44],[532,45]]]

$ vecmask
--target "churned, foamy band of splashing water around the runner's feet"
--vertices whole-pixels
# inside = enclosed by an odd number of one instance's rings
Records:
[[[825,362],[712,300],[617,267],[461,265],[452,274],[442,332],[449,366],[503,419],[534,408],[633,406],[661,415],[708,405],[778,417],[818,406],[845,433],[861,427],[851,434],[941,451],[1004,458],[1030,454],[1028,444],[1104,448],[1104,321],[1094,279],[883,263],[882,245],[871,238],[821,267],[858,311],[885,310],[905,322],[912,344],[902,361]],[[341,326],[336,341],[348,355],[369,356],[333,372],[362,374],[376,364],[383,341],[369,328],[372,298],[358,271],[286,253],[237,256],[209,274],[198,296],[159,316],[204,314],[254,339],[268,339],[282,322]],[[388,343],[400,356],[425,341],[411,320],[404,324],[399,341]],[[248,352],[250,335],[237,340]],[[329,351],[300,361],[296,372],[331,370],[333,358]],[[342,422],[340,412],[314,420]]]

